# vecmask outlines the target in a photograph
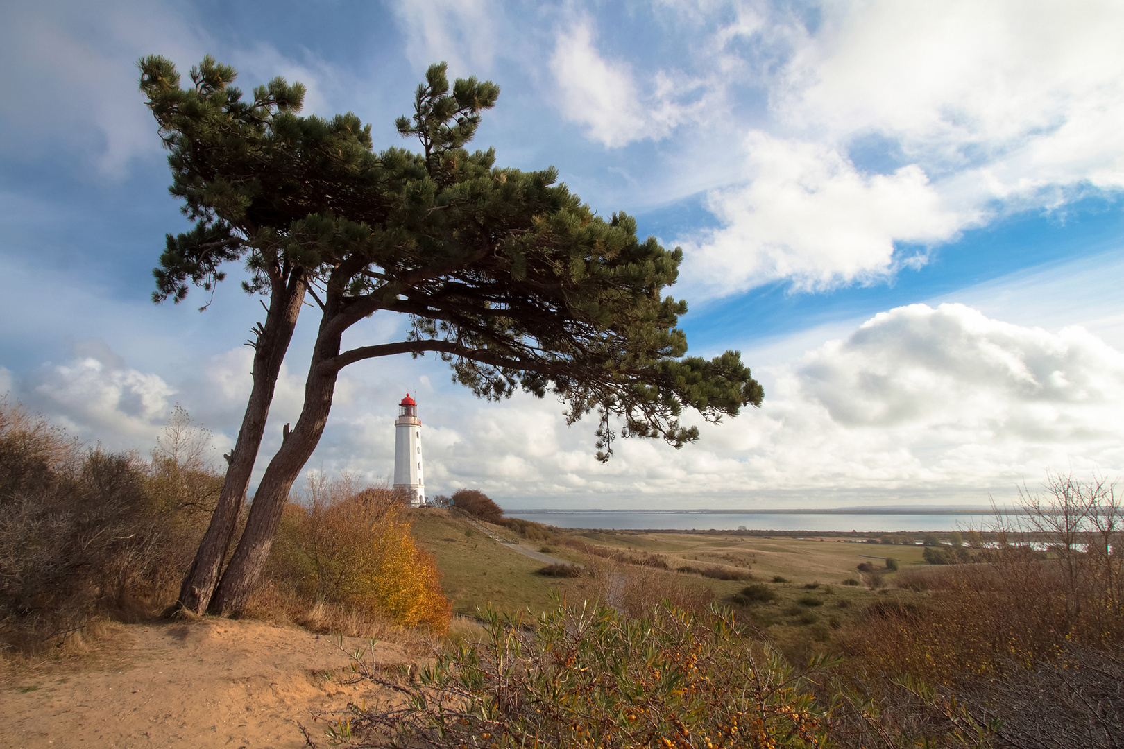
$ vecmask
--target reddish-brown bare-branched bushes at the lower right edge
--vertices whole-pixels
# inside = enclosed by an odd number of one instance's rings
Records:
[[[882,703],[903,679],[933,684],[979,723],[1001,725],[996,746],[1118,746],[1121,500],[1104,477],[1052,473],[1041,493],[1024,486],[1019,504],[1022,514],[997,513],[994,540],[969,533],[971,561],[899,576],[927,588],[921,602],[868,609],[844,636],[852,683],[882,684]]]

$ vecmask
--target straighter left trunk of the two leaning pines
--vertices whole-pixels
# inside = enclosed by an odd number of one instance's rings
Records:
[[[250,486],[250,476],[262,445],[265,420],[273,402],[273,391],[281,373],[297,316],[305,301],[307,283],[303,274],[294,271],[288,285],[274,285],[270,307],[265,312],[265,323],[260,328],[254,347],[254,385],[242,418],[238,440],[228,458],[229,466],[223,482],[223,492],[211,515],[207,533],[199,544],[194,561],[183,577],[178,605],[201,614],[210,603],[211,594],[219,579],[223,560],[226,558],[242,503]]]

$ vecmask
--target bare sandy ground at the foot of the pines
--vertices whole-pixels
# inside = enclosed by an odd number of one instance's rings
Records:
[[[119,625],[91,656],[20,667],[0,683],[0,747],[302,747],[311,711],[377,695],[345,685],[335,640],[252,621]],[[347,638],[354,649],[365,642]],[[409,663],[379,642],[384,665]],[[324,678],[333,672],[335,678]]]

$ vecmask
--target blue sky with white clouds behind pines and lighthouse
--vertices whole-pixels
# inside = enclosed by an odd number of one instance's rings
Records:
[[[217,2],[0,7],[0,394],[146,453],[175,404],[234,442],[262,319],[230,268],[151,301],[167,193],[136,61],[205,54],[308,88],[377,148],[426,67],[500,85],[474,146],[685,252],[692,355],[736,349],[760,409],[681,450],[620,440],[447,365],[344,371],[309,471],[389,477],[407,392],[426,491],[507,509],[986,504],[1124,469],[1124,3],[1094,0]],[[255,473],[294,421],[298,325]],[[388,342],[380,317],[345,344]],[[687,421],[691,422],[688,418]],[[695,419],[694,422],[698,422]]]

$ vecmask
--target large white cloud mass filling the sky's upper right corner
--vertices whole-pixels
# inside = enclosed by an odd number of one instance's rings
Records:
[[[865,282],[923,262],[916,245],[1124,189],[1124,6],[817,10],[808,27],[758,12],[715,34],[715,64],[752,70],[769,109],[729,154],[741,183],[708,194],[719,227],[683,238],[701,293]]]

